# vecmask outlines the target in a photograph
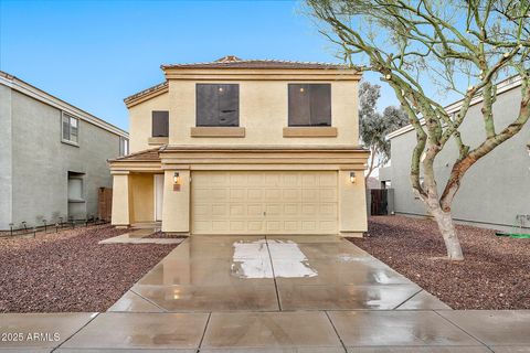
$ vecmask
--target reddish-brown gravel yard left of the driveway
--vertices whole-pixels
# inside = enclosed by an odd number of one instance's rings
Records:
[[[0,312],[105,311],[174,248],[97,244],[109,225],[0,238]]]

